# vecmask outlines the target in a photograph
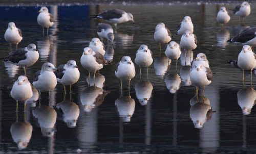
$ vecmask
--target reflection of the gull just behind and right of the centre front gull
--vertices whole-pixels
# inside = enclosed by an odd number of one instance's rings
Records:
[[[153,86],[149,81],[140,81],[135,85],[136,96],[142,106],[152,97]]]

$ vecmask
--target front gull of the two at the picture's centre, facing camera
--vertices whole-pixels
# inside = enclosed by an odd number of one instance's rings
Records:
[[[117,78],[121,80],[121,89],[122,89],[122,81],[128,80],[130,89],[130,81],[132,78],[134,78],[136,72],[135,72],[135,66],[134,63],[131,60],[131,57],[129,56],[123,56],[120,62],[116,64],[116,71],[115,75]]]

